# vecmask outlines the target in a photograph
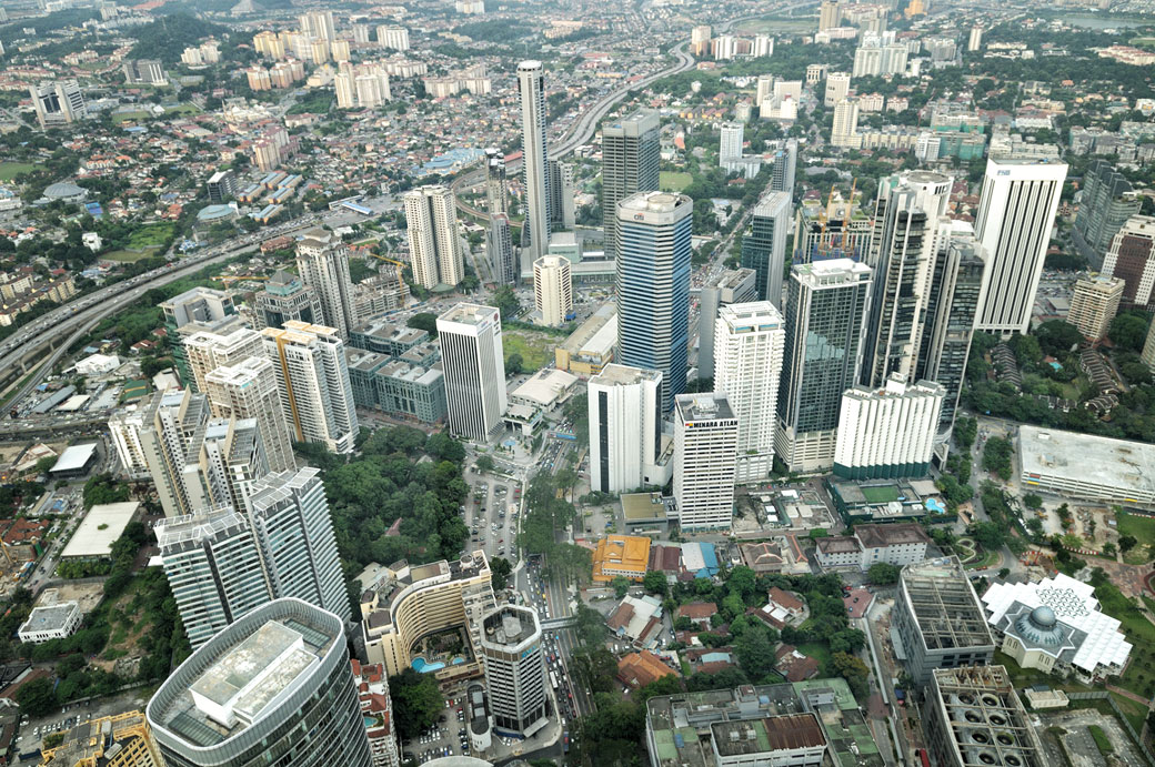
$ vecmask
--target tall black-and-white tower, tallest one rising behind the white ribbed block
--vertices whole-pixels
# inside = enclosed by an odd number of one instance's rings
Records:
[[[881,179],[874,202],[874,269],[860,380],[882,386],[892,373],[915,374],[938,253],[940,218],[954,180],[931,171]]]

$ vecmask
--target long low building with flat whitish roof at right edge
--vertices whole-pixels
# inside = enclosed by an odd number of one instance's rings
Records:
[[[1045,475],[1155,497],[1155,472],[1149,470],[1155,445],[1148,442],[1022,425],[1019,453],[1026,485]]]

